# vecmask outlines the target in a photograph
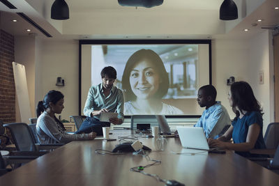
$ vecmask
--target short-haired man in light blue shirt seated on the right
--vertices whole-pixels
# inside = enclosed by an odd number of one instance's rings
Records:
[[[197,103],[200,107],[205,107],[205,110],[194,127],[202,127],[206,138],[216,139],[232,123],[227,109],[221,102],[216,102],[216,95],[216,88],[212,85],[202,86],[197,93]]]

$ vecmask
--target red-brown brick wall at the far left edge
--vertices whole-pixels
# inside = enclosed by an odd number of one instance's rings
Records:
[[[0,30],[0,119],[15,122],[14,37]]]

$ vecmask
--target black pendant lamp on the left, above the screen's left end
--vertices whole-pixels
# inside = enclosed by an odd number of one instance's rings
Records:
[[[53,20],[68,20],[69,7],[64,0],[55,0],[52,4],[51,17]]]

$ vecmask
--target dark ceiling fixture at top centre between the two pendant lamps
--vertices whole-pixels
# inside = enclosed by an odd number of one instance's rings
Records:
[[[142,6],[145,8],[152,8],[153,6],[159,6],[163,4],[164,0],[118,0],[121,6]]]

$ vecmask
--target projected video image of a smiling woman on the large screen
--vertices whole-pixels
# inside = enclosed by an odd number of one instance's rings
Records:
[[[100,71],[111,65],[124,114],[183,115],[187,100],[209,83],[208,63],[208,45],[91,45],[91,85],[100,84]]]

